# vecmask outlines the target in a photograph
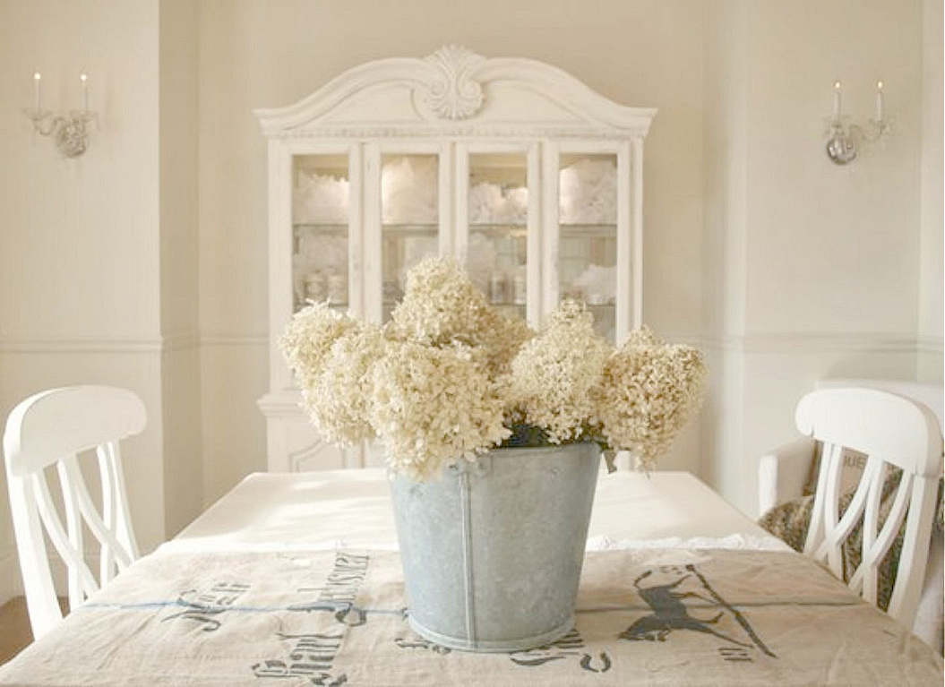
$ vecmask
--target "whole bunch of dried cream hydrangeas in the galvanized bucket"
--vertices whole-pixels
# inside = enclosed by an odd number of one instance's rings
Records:
[[[280,343],[321,435],[339,445],[376,435],[390,467],[415,479],[510,437],[593,438],[652,468],[698,407],[706,372],[701,353],[647,329],[613,352],[573,301],[536,337],[437,258],[410,271],[383,331],[318,303],[292,318]]]

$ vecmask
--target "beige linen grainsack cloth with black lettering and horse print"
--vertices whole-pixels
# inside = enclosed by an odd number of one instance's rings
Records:
[[[389,551],[158,552],[5,685],[941,685],[941,658],[795,553],[589,552],[576,627],[506,654],[405,621]]]

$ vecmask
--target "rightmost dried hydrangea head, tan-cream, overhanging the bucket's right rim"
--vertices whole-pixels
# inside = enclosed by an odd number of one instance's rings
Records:
[[[667,344],[643,327],[627,337],[593,391],[597,422],[616,450],[651,470],[702,402],[706,366],[691,346]]]

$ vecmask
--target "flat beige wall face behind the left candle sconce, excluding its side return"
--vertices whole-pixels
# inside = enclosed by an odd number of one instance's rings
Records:
[[[0,417],[50,386],[138,392],[149,421],[129,442],[129,497],[146,548],[164,534],[156,28],[153,2],[0,1]],[[102,118],[85,156],[31,134],[34,70],[56,110],[78,107],[88,72]],[[6,495],[0,509],[5,598],[19,575]]]

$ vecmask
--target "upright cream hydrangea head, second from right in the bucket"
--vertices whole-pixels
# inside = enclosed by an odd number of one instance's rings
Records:
[[[594,416],[591,390],[611,351],[594,331],[587,308],[563,301],[541,334],[512,360],[506,392],[510,416],[541,427],[552,443],[579,440]]]

